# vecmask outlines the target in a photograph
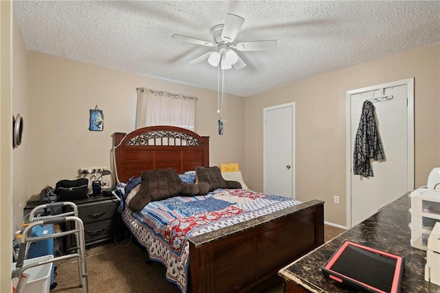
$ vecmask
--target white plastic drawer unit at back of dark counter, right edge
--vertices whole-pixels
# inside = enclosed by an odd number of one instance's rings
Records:
[[[440,222],[440,191],[418,188],[411,197],[411,246],[427,250],[432,228]]]

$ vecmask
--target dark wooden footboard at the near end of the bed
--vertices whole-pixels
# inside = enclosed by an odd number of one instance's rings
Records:
[[[255,290],[324,243],[324,202],[305,202],[189,242],[188,292]]]

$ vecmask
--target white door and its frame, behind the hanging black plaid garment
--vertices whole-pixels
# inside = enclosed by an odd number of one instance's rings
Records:
[[[347,92],[347,227],[414,189],[413,99],[413,78]],[[353,173],[354,141],[365,100],[375,107],[385,154],[385,160],[370,161],[373,177]]]

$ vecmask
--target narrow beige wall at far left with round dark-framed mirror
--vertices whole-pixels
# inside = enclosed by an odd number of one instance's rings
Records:
[[[29,193],[28,50],[14,18],[12,58],[12,114],[23,117],[21,145],[12,150],[12,230],[21,229]]]

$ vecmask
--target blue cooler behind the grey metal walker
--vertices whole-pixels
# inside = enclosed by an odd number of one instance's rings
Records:
[[[41,237],[45,235],[54,234],[54,224],[39,225],[32,228],[32,237]],[[43,257],[45,255],[55,255],[54,239],[44,239],[30,243],[28,250],[28,259],[34,257]],[[50,273],[50,287],[54,284],[54,268],[52,265],[52,272]]]

